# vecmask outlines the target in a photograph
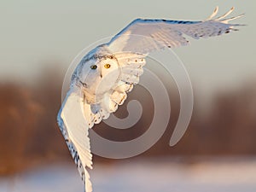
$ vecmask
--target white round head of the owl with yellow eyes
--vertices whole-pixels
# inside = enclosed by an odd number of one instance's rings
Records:
[[[86,98],[96,102],[119,81],[119,62],[114,55],[92,55],[80,62],[75,74]]]

